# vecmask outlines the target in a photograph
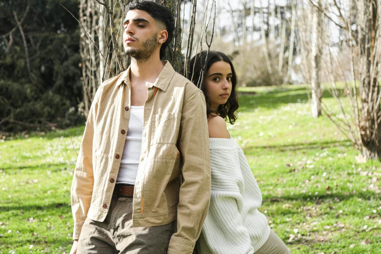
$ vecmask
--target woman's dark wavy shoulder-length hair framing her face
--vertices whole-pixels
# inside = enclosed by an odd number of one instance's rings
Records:
[[[208,96],[206,95],[206,86],[204,83],[204,80],[201,79],[201,71],[204,70],[204,76],[208,72],[209,68],[214,64],[215,62],[223,61],[228,64],[230,64],[230,67],[232,68],[232,91],[230,93],[230,97],[228,101],[223,104],[219,105],[217,112],[211,109],[211,104]],[[192,57],[190,60],[189,66],[188,66],[188,78],[195,84],[197,87],[201,89],[201,91],[204,93],[205,96],[205,102],[206,102],[206,114],[209,116],[216,116],[219,115],[222,118],[226,120],[229,120],[230,124],[234,124],[237,119],[237,109],[238,109],[238,96],[236,91],[236,84],[237,84],[237,75],[236,71],[234,70],[233,63],[227,57],[226,54],[223,54],[219,51],[209,51],[209,54],[207,54],[207,51],[202,51],[199,54],[196,54]]]

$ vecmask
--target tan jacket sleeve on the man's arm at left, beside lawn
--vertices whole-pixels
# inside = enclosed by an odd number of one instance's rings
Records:
[[[73,182],[71,189],[72,213],[74,219],[73,239],[77,240],[81,234],[83,223],[87,218],[90,208],[92,189],[94,185],[93,176],[93,138],[95,129],[95,117],[99,104],[101,88],[96,91],[94,100],[91,104],[89,115],[86,122],[85,132],[78,153],[75,165]]]

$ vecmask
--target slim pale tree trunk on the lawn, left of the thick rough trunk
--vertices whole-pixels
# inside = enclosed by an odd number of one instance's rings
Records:
[[[322,9],[322,0],[318,0],[317,5]],[[322,42],[321,37],[323,36],[323,19],[324,14],[319,10],[312,10],[312,54],[311,54],[311,87],[312,87],[312,98],[311,98],[311,111],[312,117],[318,118],[321,115],[321,100],[322,91],[320,87],[320,61],[322,57]]]

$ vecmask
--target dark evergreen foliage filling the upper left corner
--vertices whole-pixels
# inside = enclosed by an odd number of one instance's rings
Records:
[[[78,23],[60,4],[78,17],[77,0],[0,1],[1,131],[84,122]]]

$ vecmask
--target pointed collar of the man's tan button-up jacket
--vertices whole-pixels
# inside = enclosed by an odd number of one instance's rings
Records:
[[[157,87],[161,89],[162,91],[167,91],[168,85],[172,80],[173,75],[175,74],[175,70],[173,69],[172,65],[169,63],[169,61],[162,61],[164,68],[162,72],[159,74],[158,78],[156,79],[155,83],[153,84],[154,87]],[[129,71],[131,66],[128,66],[127,70],[124,71],[118,78],[118,81],[116,82],[116,85],[119,86],[123,83],[126,85],[130,85],[129,81]]]

